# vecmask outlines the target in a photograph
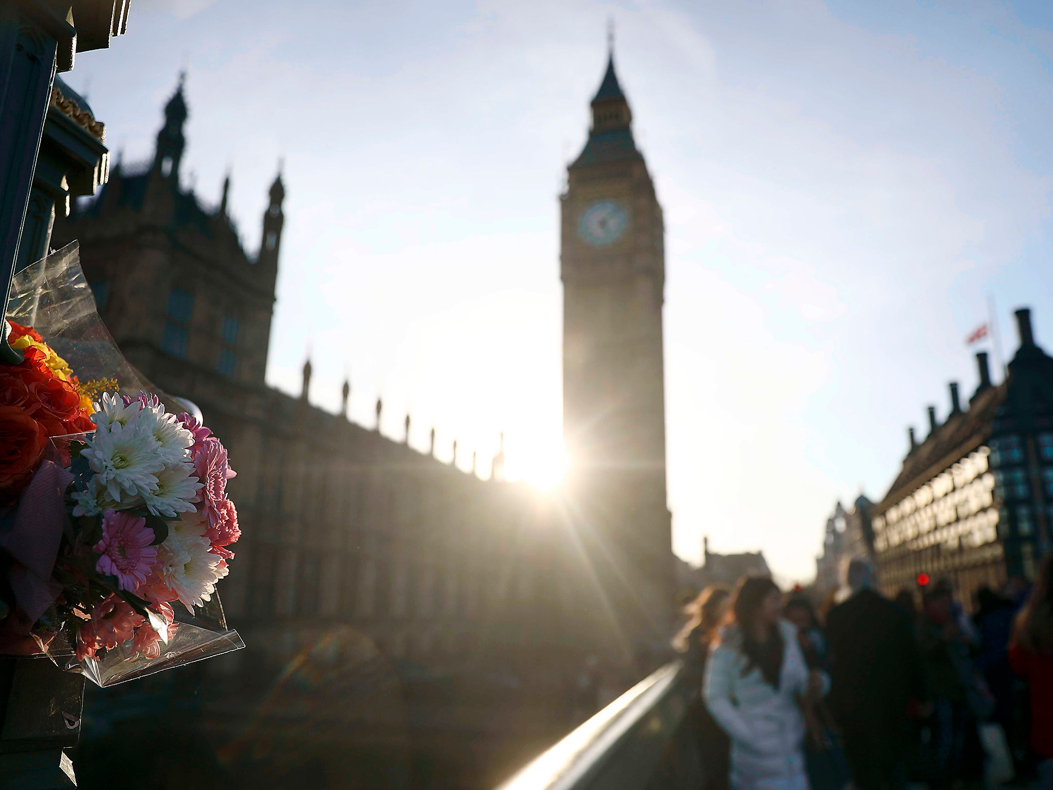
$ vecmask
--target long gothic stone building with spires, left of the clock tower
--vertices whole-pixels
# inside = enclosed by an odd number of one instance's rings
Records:
[[[98,199],[57,224],[53,244],[79,241],[85,277],[118,344],[146,378],[200,407],[238,472],[230,489],[242,537],[221,592],[247,647],[202,665],[214,700],[205,726],[217,743],[253,742],[240,752],[243,773],[255,767],[261,787],[281,765],[300,771],[312,762],[302,750],[319,743],[319,732],[338,735],[344,751],[357,737],[376,752],[370,738],[381,737],[390,750],[413,731],[411,751],[424,749],[437,762],[450,761],[442,738],[457,732],[457,752],[471,770],[496,782],[489,771],[509,770],[570,724],[560,684],[580,649],[561,613],[577,598],[577,574],[559,567],[565,538],[532,489],[481,480],[312,407],[310,364],[299,398],[265,386],[284,186],[275,179],[261,249],[250,255],[227,216],[229,182],[215,208],[180,183],[185,118],[180,86],[165,107],[154,159],[115,166]],[[285,714],[269,709],[270,724],[261,725],[260,708],[275,678],[316,658],[319,645],[342,671],[302,692],[297,705],[306,708],[290,732],[303,737],[286,738],[285,754],[272,755],[276,769],[271,757],[253,756],[255,742],[261,726],[284,729]],[[322,705],[326,696],[381,693],[385,684],[362,669],[375,664],[400,684],[403,706],[409,689],[437,678],[459,690],[438,700],[424,694],[386,728],[369,706],[347,703],[334,712]],[[517,705],[529,722],[471,702],[512,705],[510,694],[528,691],[533,696]],[[437,710],[446,718],[432,715]],[[498,746],[480,756],[482,742]],[[495,753],[503,762],[494,763]]]

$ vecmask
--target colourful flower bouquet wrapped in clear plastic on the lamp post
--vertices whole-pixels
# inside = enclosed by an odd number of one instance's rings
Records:
[[[200,415],[127,362],[76,243],[19,273],[0,366],[0,654],[110,686],[243,647],[217,582],[235,473]]]

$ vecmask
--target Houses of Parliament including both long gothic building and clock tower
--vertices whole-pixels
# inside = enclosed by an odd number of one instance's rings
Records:
[[[591,714],[590,689],[657,666],[672,626],[662,212],[613,59],[560,196],[570,471],[554,496],[352,422],[350,383],[341,413],[312,406],[310,362],[299,397],[266,386],[284,185],[246,251],[229,180],[215,206],[180,181],[187,112],[180,84],[153,159],[116,164],[52,246],[79,242],[127,359],[230,449],[242,537],[221,592],[246,647],[99,692],[102,730],[146,733],[127,695],[153,694],[246,787],[493,786]]]

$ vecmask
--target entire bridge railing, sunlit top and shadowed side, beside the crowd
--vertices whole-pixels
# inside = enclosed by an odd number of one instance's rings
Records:
[[[680,790],[701,785],[691,707],[699,690],[679,661],[640,680],[498,790]]]

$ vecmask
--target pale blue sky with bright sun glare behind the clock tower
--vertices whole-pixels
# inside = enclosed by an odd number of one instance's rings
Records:
[[[1053,12],[1042,2],[136,0],[78,57],[107,142],[147,157],[187,70],[184,181],[259,242],[284,157],[269,380],[468,463],[560,436],[558,204],[605,20],[665,210],[675,548],[814,572],[906,428],[976,386],[963,337],[1034,309],[1053,349]],[[976,350],[976,349],[974,349]],[[488,465],[482,465],[489,467]]]

